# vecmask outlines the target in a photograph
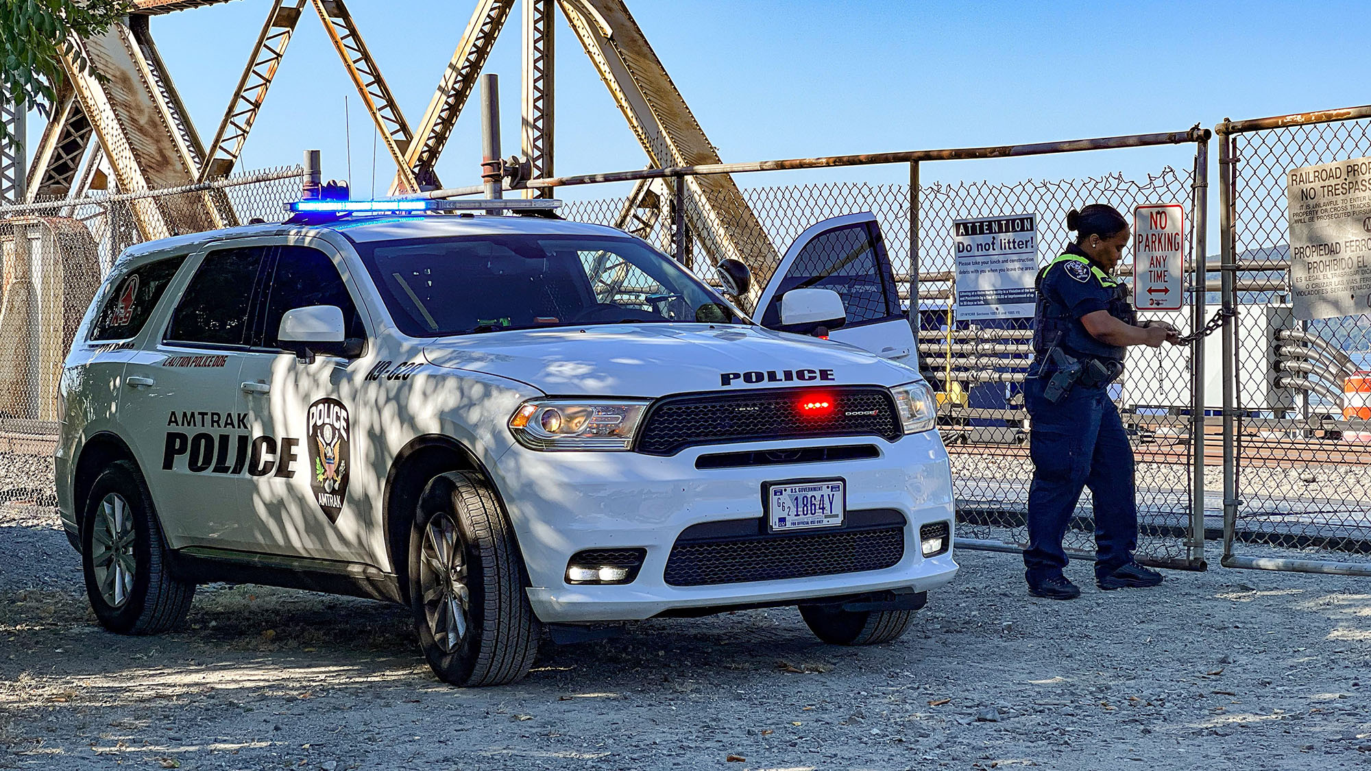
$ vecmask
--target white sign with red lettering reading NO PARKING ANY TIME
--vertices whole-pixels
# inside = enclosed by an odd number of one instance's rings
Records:
[[[1180,310],[1186,210],[1149,203],[1132,210],[1132,295],[1138,310]]]

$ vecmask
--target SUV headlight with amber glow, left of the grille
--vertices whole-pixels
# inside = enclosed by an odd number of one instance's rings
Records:
[[[629,450],[647,402],[535,399],[510,417],[510,431],[531,450]]]

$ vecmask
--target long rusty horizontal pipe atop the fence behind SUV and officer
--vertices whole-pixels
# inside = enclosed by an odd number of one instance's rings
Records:
[[[1069,141],[1045,141],[1036,144],[1005,144],[998,147],[964,147],[953,150],[908,150],[899,152],[868,152],[860,155],[828,155],[821,158],[790,158],[784,161],[754,161],[750,163],[701,163],[695,166],[673,166],[666,169],[636,169],[631,171],[609,171],[605,174],[579,174],[529,180],[522,187],[550,188],[563,185],[590,185],[598,182],[629,182],[633,180],[654,180],[661,177],[691,177],[707,174],[742,174],[747,171],[783,171],[794,169],[824,169],[832,166],[872,166],[880,163],[909,163],[913,161],[972,161],[978,158],[1017,158],[1026,155],[1052,155],[1057,152],[1079,152],[1083,150],[1116,150],[1123,147],[1153,147],[1163,144],[1186,144],[1209,136],[1209,129],[1194,128],[1189,132],[1160,134],[1130,134],[1120,137],[1082,139]]]

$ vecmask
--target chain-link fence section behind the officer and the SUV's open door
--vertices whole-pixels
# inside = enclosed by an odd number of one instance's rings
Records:
[[[910,306],[910,320],[917,329],[920,369],[939,391],[941,431],[951,455],[957,495],[958,538],[962,545],[1016,550],[1027,543],[1027,498],[1032,477],[1028,416],[1020,386],[1032,355],[1031,318],[967,322],[954,317],[953,220],[1035,214],[1038,263],[1045,265],[1065,246],[1065,215],[1073,207],[1108,203],[1132,213],[1142,204],[1179,203],[1185,207],[1186,265],[1193,265],[1191,246],[1196,239],[1202,244],[1202,232],[1196,232],[1196,202],[1204,200],[1206,170],[1202,152],[1198,165],[1196,152],[1204,139],[1197,132],[1190,141],[1198,144],[1189,150],[1178,148],[1175,166],[1142,178],[1101,174],[1080,180],[920,184],[916,206],[910,200],[912,185],[832,182],[754,187],[742,189],[750,213],[714,211],[712,221],[727,225],[733,220],[755,217],[761,224],[771,248],[769,252],[758,252],[772,255],[771,262],[758,259],[758,254],[747,261],[754,268],[755,283],[761,285],[772,277],[776,257],[783,255],[810,225],[858,211],[876,217],[901,284],[908,287],[917,274],[920,291]],[[916,162],[912,177],[917,178],[917,174]],[[569,203],[562,214],[569,220],[635,230],[664,251],[684,252],[687,262],[699,261],[695,252],[703,248],[703,240],[679,243],[673,228],[677,218],[672,209],[675,181],[662,182],[659,192],[647,198],[646,206],[640,195],[579,200]],[[1198,198],[1197,189],[1201,191]],[[688,196],[690,188],[681,195]],[[916,250],[910,248],[912,232],[917,233]],[[914,259],[910,259],[912,254]],[[702,262],[714,263],[724,257],[739,255],[709,254]],[[695,268],[709,277],[701,265]],[[1126,283],[1131,281],[1131,261],[1120,266],[1120,273]],[[1169,321],[1182,332],[1194,329],[1197,316],[1204,313],[1205,295],[1196,292],[1190,273],[1185,276],[1183,292],[1185,310],[1145,313],[1143,318]],[[908,299],[908,291],[901,294]],[[1154,564],[1204,565],[1202,505],[1197,509],[1196,503],[1204,499],[1205,486],[1213,487],[1212,493],[1217,495],[1220,479],[1211,475],[1206,482],[1202,473],[1196,473],[1200,450],[1196,442],[1204,442],[1204,410],[1196,398],[1193,373],[1201,344],[1135,348],[1130,353],[1124,376],[1111,390],[1138,461],[1138,554]],[[1079,557],[1094,553],[1091,510],[1087,491],[1067,535],[1068,549]],[[1216,530],[1217,521],[1213,525]]]

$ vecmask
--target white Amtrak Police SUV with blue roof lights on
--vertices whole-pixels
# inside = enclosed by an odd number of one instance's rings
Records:
[[[429,211],[461,206],[307,200],[121,255],[56,449],[106,628],[169,630],[207,582],[352,594],[409,605],[443,680],[495,685],[544,630],[655,616],[798,605],[827,642],[886,642],[953,578],[871,214],[803,233],[757,324],[622,230]]]

